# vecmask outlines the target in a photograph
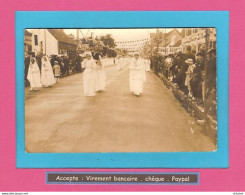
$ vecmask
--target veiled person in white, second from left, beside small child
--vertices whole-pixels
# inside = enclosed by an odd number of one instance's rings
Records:
[[[56,83],[53,68],[50,64],[49,58],[46,55],[42,58],[41,83],[45,87],[49,87]]]

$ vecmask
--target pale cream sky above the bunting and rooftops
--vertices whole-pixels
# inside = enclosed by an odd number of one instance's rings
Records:
[[[173,30],[166,29],[166,32]],[[179,29],[178,29],[179,30]],[[160,31],[164,31],[160,29]],[[64,29],[66,34],[73,34],[77,37],[76,29]],[[131,41],[138,39],[145,39],[149,37],[149,33],[156,32],[156,29],[80,29],[79,37],[90,36],[93,33],[93,36],[102,36],[106,34],[111,34],[115,41]]]

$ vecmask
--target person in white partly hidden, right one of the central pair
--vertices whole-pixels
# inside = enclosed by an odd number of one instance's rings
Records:
[[[96,91],[101,92],[105,90],[105,81],[106,81],[106,75],[104,70],[104,63],[102,61],[101,55],[97,54],[97,68],[96,68],[96,79],[95,79],[95,85],[96,85]]]

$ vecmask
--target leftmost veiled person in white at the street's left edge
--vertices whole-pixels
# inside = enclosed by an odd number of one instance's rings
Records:
[[[36,59],[33,57],[30,59],[27,79],[30,82],[30,90],[38,90],[39,87],[42,87],[40,69],[37,65]]]

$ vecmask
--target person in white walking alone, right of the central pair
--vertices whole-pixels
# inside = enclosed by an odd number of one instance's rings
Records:
[[[143,92],[143,84],[145,81],[145,63],[140,58],[139,53],[135,53],[129,65],[130,74],[130,91],[136,96],[140,96]]]

